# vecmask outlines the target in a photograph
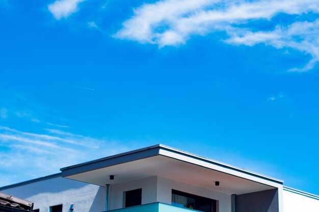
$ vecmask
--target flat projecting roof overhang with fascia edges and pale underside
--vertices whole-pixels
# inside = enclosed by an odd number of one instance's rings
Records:
[[[165,177],[227,194],[245,194],[282,186],[283,181],[225,163],[154,145],[61,168],[62,177],[105,186],[151,176]],[[114,180],[109,176],[114,175]],[[220,186],[214,182],[220,181]]]

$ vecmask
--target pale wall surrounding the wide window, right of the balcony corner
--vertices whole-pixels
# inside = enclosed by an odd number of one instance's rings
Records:
[[[231,211],[231,195],[163,177],[157,177],[157,202],[171,204],[172,189],[218,200],[219,212]]]

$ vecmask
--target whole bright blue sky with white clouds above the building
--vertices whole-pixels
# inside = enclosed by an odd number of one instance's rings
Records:
[[[163,143],[319,194],[317,0],[0,0],[0,186]]]

